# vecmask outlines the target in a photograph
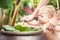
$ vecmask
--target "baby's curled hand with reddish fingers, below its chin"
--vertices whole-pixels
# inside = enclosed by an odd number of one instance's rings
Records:
[[[42,30],[44,33],[48,33],[48,32],[53,33],[53,32],[55,32],[55,27],[56,26],[52,23],[46,23],[42,26]]]

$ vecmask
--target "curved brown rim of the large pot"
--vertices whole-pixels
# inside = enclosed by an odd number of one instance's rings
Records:
[[[31,32],[9,32],[5,30],[1,30],[1,34],[6,36],[34,36],[34,35],[41,35],[43,30],[38,31],[31,31]]]

